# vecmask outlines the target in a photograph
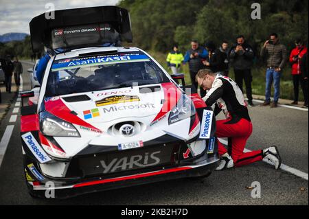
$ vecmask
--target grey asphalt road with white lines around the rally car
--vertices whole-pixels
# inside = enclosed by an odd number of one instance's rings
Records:
[[[24,65],[24,69],[30,65]],[[23,90],[30,89],[28,73]],[[308,173],[308,111],[255,106],[249,109],[253,133],[247,149],[277,145],[284,164]],[[66,200],[34,199],[23,178],[20,115],[9,123],[12,108],[0,128],[14,124],[0,168],[0,205],[308,205],[308,181],[262,161],[241,168],[213,172],[204,180],[181,179],[87,194]],[[251,183],[261,185],[252,198]]]

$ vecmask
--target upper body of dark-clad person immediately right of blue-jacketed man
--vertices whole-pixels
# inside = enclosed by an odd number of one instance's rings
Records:
[[[212,72],[223,73],[227,69],[225,65],[226,54],[216,49],[216,45],[212,42],[206,43],[205,47],[208,51],[208,58],[203,61],[203,64]]]

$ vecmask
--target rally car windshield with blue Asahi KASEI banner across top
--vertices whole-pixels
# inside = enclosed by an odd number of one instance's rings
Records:
[[[146,54],[118,53],[55,60],[47,79],[46,97],[170,82]]]

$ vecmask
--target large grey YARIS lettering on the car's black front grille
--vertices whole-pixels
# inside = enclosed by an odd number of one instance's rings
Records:
[[[115,172],[116,170],[130,170],[136,167],[146,168],[160,163],[161,159],[156,155],[160,154],[161,150],[149,154],[146,152],[142,155],[133,155],[132,157],[123,157],[121,159],[115,158],[110,163],[100,161],[103,173]]]

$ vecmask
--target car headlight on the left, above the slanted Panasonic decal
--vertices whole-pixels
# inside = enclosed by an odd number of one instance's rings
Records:
[[[80,137],[80,133],[69,122],[48,112],[40,113],[40,129],[43,135],[58,137]]]

